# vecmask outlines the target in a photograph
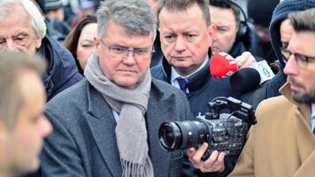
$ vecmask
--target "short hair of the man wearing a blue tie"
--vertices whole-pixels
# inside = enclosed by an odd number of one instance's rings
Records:
[[[165,8],[170,12],[185,12],[189,7],[197,4],[204,15],[207,26],[210,26],[209,0],[160,0],[157,7],[157,21],[159,13]]]

